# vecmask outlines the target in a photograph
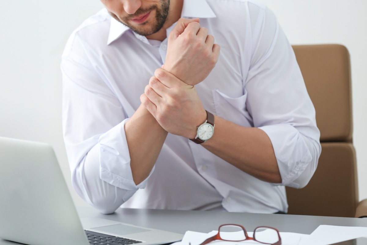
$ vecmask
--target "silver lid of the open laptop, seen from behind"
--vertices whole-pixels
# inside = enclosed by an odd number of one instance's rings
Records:
[[[50,145],[0,137],[0,195],[0,238],[88,245]]]

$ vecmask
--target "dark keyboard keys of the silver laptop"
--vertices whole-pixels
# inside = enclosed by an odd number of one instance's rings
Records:
[[[88,242],[91,245],[125,245],[141,242],[123,237],[115,237],[113,235],[107,235],[95,231],[84,230],[84,232],[86,233]]]

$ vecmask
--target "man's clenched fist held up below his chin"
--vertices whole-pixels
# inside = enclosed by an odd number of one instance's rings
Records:
[[[220,47],[199,19],[178,20],[168,37],[163,69],[189,85],[203,81],[218,61]]]

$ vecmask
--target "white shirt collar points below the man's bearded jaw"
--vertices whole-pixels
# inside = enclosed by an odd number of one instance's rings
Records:
[[[181,17],[184,18],[215,18],[216,15],[210,8],[206,0],[184,0]],[[111,17],[110,31],[107,45],[122,36],[127,30],[126,25]]]

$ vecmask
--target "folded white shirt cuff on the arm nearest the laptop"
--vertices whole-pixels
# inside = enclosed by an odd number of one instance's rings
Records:
[[[124,129],[127,121],[128,118],[99,137],[100,178],[118,188],[135,192],[146,187],[146,182],[155,167],[145,180],[138,185],[135,184],[132,178],[130,154]]]

